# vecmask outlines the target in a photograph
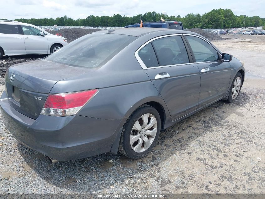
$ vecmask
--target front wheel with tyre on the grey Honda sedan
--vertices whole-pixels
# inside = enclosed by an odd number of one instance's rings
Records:
[[[230,87],[229,97],[226,100],[226,102],[229,102],[229,103],[235,102],[236,98],[238,97],[238,95],[240,93],[241,86],[242,86],[242,75],[241,75],[241,73],[238,72],[232,82],[233,83]]]

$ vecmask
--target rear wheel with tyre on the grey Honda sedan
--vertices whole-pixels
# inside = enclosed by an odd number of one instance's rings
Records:
[[[126,121],[119,143],[119,152],[128,158],[146,156],[155,146],[161,130],[160,115],[151,106],[137,108]]]

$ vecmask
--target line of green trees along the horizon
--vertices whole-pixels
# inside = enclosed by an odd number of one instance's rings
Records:
[[[140,22],[140,16],[143,21],[159,21],[163,19],[173,19],[181,21],[184,28],[212,28],[212,29],[226,29],[226,28],[239,28],[252,27],[252,26],[265,26],[265,18],[259,16],[248,17],[246,15],[236,16],[231,9],[213,9],[203,15],[190,13],[185,17],[168,16],[162,13],[147,12],[145,14],[136,14],[133,17],[121,16],[114,14],[113,16],[94,16],[89,15],[85,19],[72,19],[66,15],[63,17],[42,18],[42,19],[14,19],[23,23],[42,26],[110,26],[110,27],[124,27],[125,25],[132,25]],[[7,20],[7,19],[2,19]]]

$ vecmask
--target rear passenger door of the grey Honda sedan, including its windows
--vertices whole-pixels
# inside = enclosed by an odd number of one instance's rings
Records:
[[[181,35],[157,37],[135,55],[166,102],[172,120],[196,110],[199,69],[190,63]]]

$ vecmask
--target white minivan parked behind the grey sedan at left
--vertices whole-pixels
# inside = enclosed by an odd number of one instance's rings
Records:
[[[0,59],[3,55],[50,54],[66,44],[64,37],[37,26],[0,20]]]

